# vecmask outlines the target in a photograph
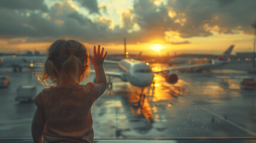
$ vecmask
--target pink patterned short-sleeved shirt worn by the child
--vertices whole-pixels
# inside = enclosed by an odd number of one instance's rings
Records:
[[[91,107],[100,97],[95,83],[43,89],[33,98],[44,110],[43,142],[94,142]]]

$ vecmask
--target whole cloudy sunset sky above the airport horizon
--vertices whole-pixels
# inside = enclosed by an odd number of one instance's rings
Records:
[[[254,0],[0,1],[0,52],[45,52],[58,38],[111,53],[251,52]]]

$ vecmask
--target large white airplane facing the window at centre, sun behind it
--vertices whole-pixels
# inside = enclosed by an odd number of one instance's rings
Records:
[[[124,36],[124,43],[126,44],[126,38]],[[186,65],[186,66],[175,66],[175,67],[166,67],[164,69],[151,68],[148,64],[143,63],[142,61],[124,58],[120,61],[109,61],[105,60],[104,63],[118,64],[121,68],[121,72],[115,71],[106,71],[106,75],[109,77],[108,85],[112,88],[112,82],[110,77],[119,77],[124,82],[129,82],[134,86],[141,88],[140,97],[144,100],[143,89],[153,83],[153,78],[155,73],[160,73],[165,77],[166,82],[174,84],[178,82],[177,74],[173,73],[174,70],[182,69],[209,69],[212,67],[222,66],[227,63],[227,58],[229,58],[230,52],[232,51],[234,45],[230,46],[223,55],[221,55],[217,60],[212,60],[212,63],[207,64],[195,64],[195,65]],[[126,53],[126,45],[125,45]],[[95,71],[91,70],[91,73]],[[95,80],[95,79],[94,79]]]

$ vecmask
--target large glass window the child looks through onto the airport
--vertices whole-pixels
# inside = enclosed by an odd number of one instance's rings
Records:
[[[57,39],[76,39],[90,55],[94,45],[108,52],[107,89],[91,108],[95,139],[255,138],[255,5],[253,0],[0,1],[0,139],[32,138],[32,99],[55,86],[38,82],[37,63],[81,54],[48,55]],[[91,63],[90,68],[81,85],[97,81]],[[97,89],[91,86],[91,92]],[[72,98],[63,102],[71,104]],[[66,120],[76,113],[67,104],[63,126],[71,126]],[[44,104],[47,111],[55,108]]]

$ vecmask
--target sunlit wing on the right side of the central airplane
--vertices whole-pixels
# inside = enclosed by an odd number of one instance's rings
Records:
[[[152,71],[153,73],[159,73],[159,72],[162,72],[162,71],[174,71],[174,70],[184,70],[184,69],[196,69],[196,68],[210,68],[210,67],[213,67],[214,64],[209,64],[209,63],[206,63],[206,64],[192,64],[192,65],[184,65],[184,66],[175,66],[175,67],[166,67],[166,68],[159,68],[156,67],[156,68],[152,68]]]

